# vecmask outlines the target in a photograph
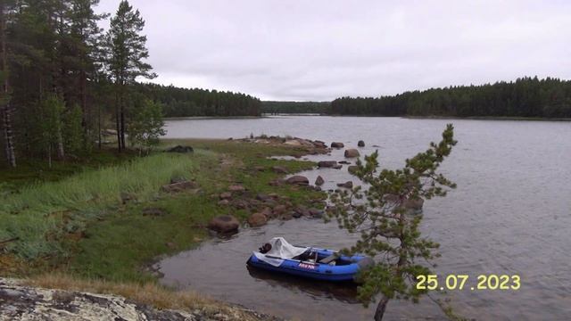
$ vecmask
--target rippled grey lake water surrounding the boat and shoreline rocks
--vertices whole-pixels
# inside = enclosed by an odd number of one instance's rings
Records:
[[[484,320],[565,320],[571,317],[571,123],[550,121],[401,119],[353,117],[270,117],[263,119],[179,119],[167,121],[167,137],[241,138],[290,135],[327,144],[367,144],[361,155],[379,151],[381,166],[397,168],[406,158],[440,139],[452,122],[459,143],[443,163],[458,184],[445,198],[425,203],[422,232],[441,244],[434,272],[465,274],[475,285],[480,274],[521,276],[521,288],[432,292],[449,300],[462,317]],[[343,160],[343,150],[310,160]],[[321,175],[326,188],[353,179],[343,169]],[[355,320],[372,317],[354,289],[279,278],[249,271],[251,251],[270,237],[292,243],[340,248],[351,244],[335,224],[298,219],[244,229],[229,240],[212,240],[164,259],[162,282],[211,294],[282,317]],[[441,319],[433,300],[391,301],[386,319]]]

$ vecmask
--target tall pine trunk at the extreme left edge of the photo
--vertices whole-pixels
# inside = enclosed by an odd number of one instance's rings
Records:
[[[4,128],[4,147],[6,153],[6,161],[12,166],[16,167],[16,154],[14,152],[13,133],[12,133],[12,106],[10,104],[9,96],[10,88],[8,83],[8,62],[6,57],[6,21],[4,15],[4,1],[0,1],[0,41],[2,41],[2,71],[4,72],[4,84],[2,91],[6,102],[0,114],[2,115],[3,128]]]

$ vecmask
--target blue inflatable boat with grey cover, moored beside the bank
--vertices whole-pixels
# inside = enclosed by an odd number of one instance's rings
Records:
[[[345,256],[337,251],[295,246],[283,237],[274,237],[264,247],[252,252],[247,261],[250,267],[321,281],[355,282],[357,273],[373,264],[373,259],[364,255]]]

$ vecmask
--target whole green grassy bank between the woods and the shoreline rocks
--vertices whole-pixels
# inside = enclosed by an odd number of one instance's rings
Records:
[[[304,151],[283,145],[236,141],[185,140],[191,154],[156,153],[120,165],[79,172],[55,182],[32,183],[0,204],[0,240],[19,237],[0,250],[1,274],[54,272],[115,282],[153,282],[145,266],[160,255],[192,248],[208,237],[205,226],[219,214],[245,219],[247,210],[220,206],[228,185],[244,185],[249,193],[279,193],[293,204],[322,197],[295,186],[271,186],[282,166],[290,172],[309,169],[308,161],[275,161],[270,155]],[[160,192],[172,177],[193,179],[200,190]],[[121,202],[128,193],[134,201]],[[145,209],[161,215],[144,215]],[[6,253],[26,262],[4,264]],[[24,260],[25,259],[25,260]],[[31,264],[29,263],[31,262]],[[3,271],[4,269],[4,271]]]

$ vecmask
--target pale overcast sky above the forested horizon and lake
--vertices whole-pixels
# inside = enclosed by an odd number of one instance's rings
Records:
[[[164,85],[262,100],[571,78],[571,1],[130,0]],[[101,0],[114,12],[118,0]]]

